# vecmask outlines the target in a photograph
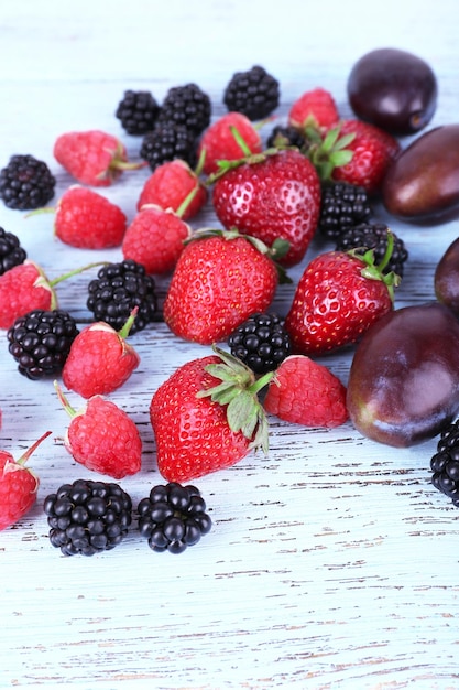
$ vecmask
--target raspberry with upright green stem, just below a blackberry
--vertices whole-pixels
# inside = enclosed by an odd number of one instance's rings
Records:
[[[140,364],[138,353],[125,342],[136,312],[136,308],[132,310],[119,332],[100,321],[80,331],[62,370],[63,381],[69,390],[83,398],[91,398],[113,392],[125,384]]]

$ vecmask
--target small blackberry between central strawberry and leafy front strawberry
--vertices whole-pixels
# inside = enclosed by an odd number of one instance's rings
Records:
[[[249,316],[228,338],[231,354],[254,374],[265,374],[278,367],[292,351],[284,320],[277,314],[256,312]]]

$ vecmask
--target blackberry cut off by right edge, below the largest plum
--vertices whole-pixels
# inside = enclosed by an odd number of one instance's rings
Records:
[[[441,431],[437,452],[430,460],[430,470],[435,488],[459,506],[459,420]]]

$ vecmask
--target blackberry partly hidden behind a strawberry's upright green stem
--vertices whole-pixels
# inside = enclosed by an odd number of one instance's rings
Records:
[[[336,249],[339,251],[349,251],[359,247],[373,249],[374,262],[378,265],[382,261],[387,248],[389,227],[384,223],[361,223],[353,227],[347,228],[338,238]],[[403,269],[408,258],[408,251],[403,239],[392,233],[394,238],[394,247],[391,259],[384,269],[384,273],[394,271],[401,278]]]

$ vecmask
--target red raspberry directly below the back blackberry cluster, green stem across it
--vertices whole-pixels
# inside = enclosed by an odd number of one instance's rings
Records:
[[[207,202],[207,187],[199,180],[188,163],[181,159],[166,161],[153,171],[146,180],[138,201],[138,211],[145,204],[155,204],[164,209],[178,212],[188,195],[196,190],[195,196],[181,213],[184,220],[196,216]]]

